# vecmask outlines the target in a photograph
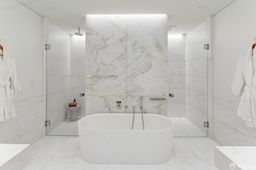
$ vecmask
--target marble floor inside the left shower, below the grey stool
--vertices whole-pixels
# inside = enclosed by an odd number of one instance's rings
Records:
[[[52,129],[48,133],[48,135],[78,136],[78,127],[77,127],[78,120],[80,119],[77,119],[76,121],[70,121],[70,119],[66,119],[60,125]]]

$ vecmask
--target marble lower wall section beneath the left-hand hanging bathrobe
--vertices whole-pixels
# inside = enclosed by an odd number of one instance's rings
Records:
[[[42,137],[42,97],[15,103],[17,117],[2,122],[0,143],[32,144]]]

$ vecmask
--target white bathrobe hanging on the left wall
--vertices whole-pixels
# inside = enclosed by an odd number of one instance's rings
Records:
[[[4,57],[0,59],[0,122],[16,116],[13,99],[16,98],[19,90],[21,88],[15,61],[4,50]]]

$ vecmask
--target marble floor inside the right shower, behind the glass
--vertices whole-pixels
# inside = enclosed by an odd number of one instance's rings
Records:
[[[174,137],[207,137],[207,134],[199,129],[186,117],[171,117],[174,121]]]

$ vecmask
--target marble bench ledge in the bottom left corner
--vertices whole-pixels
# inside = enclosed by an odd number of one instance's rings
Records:
[[[0,144],[0,170],[20,170],[30,161],[30,145]]]

